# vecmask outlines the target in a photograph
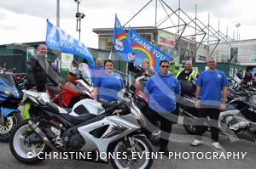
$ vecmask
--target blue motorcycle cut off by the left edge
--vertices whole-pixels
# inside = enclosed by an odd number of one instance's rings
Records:
[[[15,82],[13,70],[0,68],[0,141],[7,142],[10,132],[20,122],[20,87]]]

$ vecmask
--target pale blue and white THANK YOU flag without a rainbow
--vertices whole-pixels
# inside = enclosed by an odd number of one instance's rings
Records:
[[[86,59],[91,67],[95,66],[92,55],[82,42],[52,25],[49,21],[47,21],[46,46],[64,53],[78,55]]]

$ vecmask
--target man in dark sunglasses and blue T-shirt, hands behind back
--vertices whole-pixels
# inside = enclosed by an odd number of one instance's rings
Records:
[[[169,73],[167,60],[160,61],[160,72],[151,76],[145,83],[145,94],[148,97],[148,126],[146,135],[154,131],[157,121],[160,121],[160,152],[168,155],[168,140],[172,131],[172,122],[177,120],[173,115],[176,109],[177,95],[180,95],[180,85],[177,79]]]

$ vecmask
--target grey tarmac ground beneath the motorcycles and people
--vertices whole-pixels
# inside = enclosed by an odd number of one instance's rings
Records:
[[[151,168],[186,168],[186,169],[200,169],[200,168],[225,168],[225,169],[252,169],[255,168],[256,159],[256,143],[244,138],[240,138],[235,142],[230,142],[230,139],[224,135],[220,135],[219,143],[223,149],[216,151],[212,148],[209,139],[210,133],[206,133],[203,138],[204,144],[198,147],[191,147],[189,144],[194,136],[189,135],[182,125],[176,124],[172,127],[172,135],[170,137],[170,144],[168,146],[171,151],[170,157],[162,156],[154,159]],[[154,151],[158,151],[159,147],[154,146]],[[216,153],[218,153],[218,156]],[[46,160],[38,165],[25,165],[15,160],[15,157],[9,150],[8,143],[0,143],[0,168],[9,169],[46,169],[46,168],[76,168],[76,169],[96,169],[96,168],[112,168],[110,164],[98,164],[86,161],[73,160]],[[176,155],[176,158],[175,158]],[[204,156],[202,156],[204,155]],[[230,156],[228,156],[230,155]],[[242,156],[244,155],[244,156]],[[203,157],[203,158],[202,158]],[[216,157],[213,159],[213,157]],[[233,159],[235,158],[235,159]]]

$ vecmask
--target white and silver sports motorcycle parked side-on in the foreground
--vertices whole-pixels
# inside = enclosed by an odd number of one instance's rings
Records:
[[[91,99],[80,100],[72,109],[66,109],[48,102],[39,93],[24,93],[32,100],[34,116],[12,132],[9,146],[18,161],[35,164],[44,161],[45,158],[40,158],[42,153],[54,150],[58,153],[91,152],[90,160],[77,160],[110,162],[114,168],[149,168],[152,165],[153,159],[132,158],[134,154],[150,153],[153,149],[140,132],[144,117],[129,93],[119,92],[119,101],[107,109]],[[130,105],[129,113],[119,115],[121,105],[126,103]],[[122,158],[101,156],[103,152],[115,155],[121,152]]]

